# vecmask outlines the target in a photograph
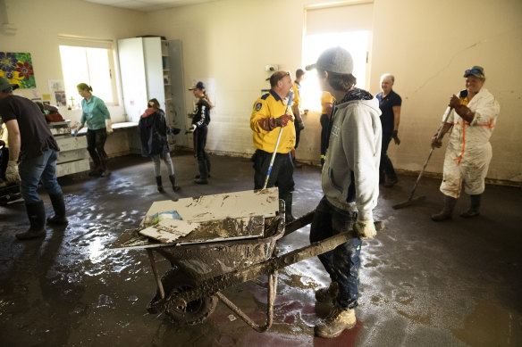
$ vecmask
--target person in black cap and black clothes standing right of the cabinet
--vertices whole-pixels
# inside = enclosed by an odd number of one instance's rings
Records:
[[[194,133],[194,156],[198,159],[199,175],[196,176],[194,183],[198,185],[208,184],[210,177],[210,159],[205,152],[206,136],[208,134],[208,124],[210,123],[210,109],[213,107],[210,103],[208,95],[206,95],[205,84],[199,81],[191,90],[198,100],[196,110],[192,118],[192,125],[189,128],[190,133]]]

